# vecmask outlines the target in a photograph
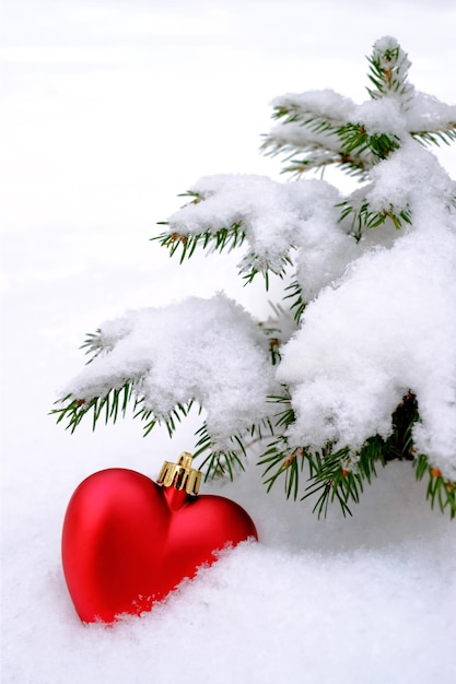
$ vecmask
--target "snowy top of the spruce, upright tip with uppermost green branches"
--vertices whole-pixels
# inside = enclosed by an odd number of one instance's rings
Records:
[[[410,62],[395,38],[375,43],[370,64],[375,87],[360,105],[330,90],[277,97],[273,116],[280,123],[264,150],[284,153],[284,170],[294,174],[335,164],[365,178],[410,137],[435,144],[456,139],[456,107],[416,92],[407,79]]]

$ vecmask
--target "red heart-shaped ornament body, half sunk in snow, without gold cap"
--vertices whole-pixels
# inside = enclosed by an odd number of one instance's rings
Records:
[[[217,551],[257,539],[248,514],[222,496],[187,494],[120,468],[84,480],[68,505],[62,564],[84,622],[149,611]]]

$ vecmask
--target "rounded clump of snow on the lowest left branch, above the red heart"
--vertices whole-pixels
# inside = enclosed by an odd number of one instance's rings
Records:
[[[142,408],[159,418],[196,400],[221,443],[270,412],[266,397],[276,382],[267,338],[223,294],[130,311],[101,330],[106,352],[66,387],[65,396],[90,400],[132,380]]]

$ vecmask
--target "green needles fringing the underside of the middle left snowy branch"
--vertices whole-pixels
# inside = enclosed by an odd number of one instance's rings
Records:
[[[167,225],[167,224],[162,224]],[[229,228],[220,228],[214,233],[209,231],[204,233],[182,234],[165,232],[155,237],[152,240],[159,240],[161,247],[166,247],[169,250],[169,257],[173,257],[180,250],[179,263],[183,263],[186,259],[189,259],[196,248],[207,249],[210,251],[219,251],[222,253],[225,249],[231,251],[236,247],[241,247],[245,238],[245,232],[242,229],[242,221],[236,221]]]

